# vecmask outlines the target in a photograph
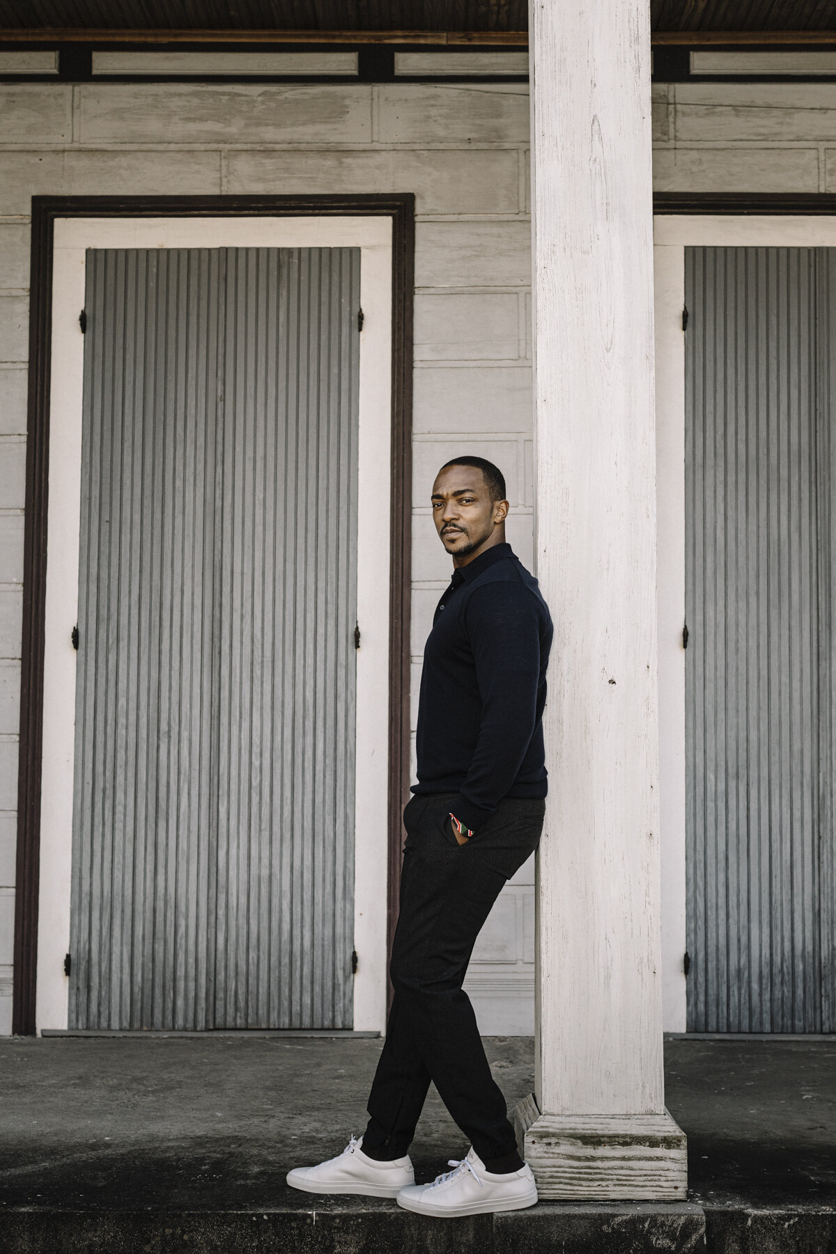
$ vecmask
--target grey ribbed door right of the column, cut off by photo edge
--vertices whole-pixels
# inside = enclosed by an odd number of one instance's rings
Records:
[[[836,1027],[832,265],[686,250],[691,1031]]]

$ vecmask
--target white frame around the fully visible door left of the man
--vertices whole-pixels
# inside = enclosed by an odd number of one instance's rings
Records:
[[[75,662],[88,248],[360,248],[357,485],[357,741],[355,801],[355,1031],[386,1022],[392,222],[365,217],[58,218],[53,252],[49,517],[44,612],[44,722],[36,1030],[68,1026]]]

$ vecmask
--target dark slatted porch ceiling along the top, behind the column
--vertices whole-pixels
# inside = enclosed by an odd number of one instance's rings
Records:
[[[651,13],[657,35],[836,29],[836,0],[651,0]],[[473,31],[516,34],[519,40],[526,28],[526,0],[0,0],[0,30],[56,35],[124,30],[194,31],[199,38],[229,31],[239,39],[252,31],[263,39],[269,31],[316,39],[350,31]]]

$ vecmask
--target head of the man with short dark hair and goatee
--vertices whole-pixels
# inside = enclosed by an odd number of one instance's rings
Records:
[[[504,543],[508,509],[503,473],[485,458],[454,458],[435,477],[432,518],[455,566]]]

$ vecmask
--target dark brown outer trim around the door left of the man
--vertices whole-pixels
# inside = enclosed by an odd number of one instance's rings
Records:
[[[53,232],[56,218],[330,217],[392,219],[392,484],[389,701],[389,929],[394,930],[401,811],[409,794],[410,558],[412,449],[412,290],[415,197],[381,196],[34,196],[31,202],[29,418],[24,540],[24,622],[18,776],[18,879],[13,1032],[35,1032],[40,788],[44,709],[44,598],[49,472]]]

